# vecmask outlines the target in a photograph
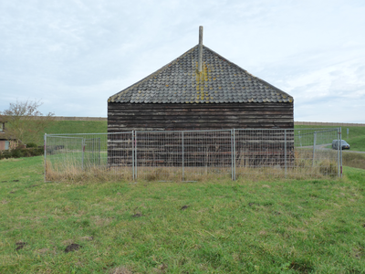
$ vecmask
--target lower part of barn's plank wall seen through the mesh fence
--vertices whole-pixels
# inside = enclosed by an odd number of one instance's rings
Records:
[[[108,142],[110,166],[137,165],[229,167],[235,151],[236,167],[291,166],[294,163],[294,130],[237,130],[202,132],[137,132],[134,142]],[[126,147],[134,143],[133,145]],[[233,148],[235,145],[235,150]]]

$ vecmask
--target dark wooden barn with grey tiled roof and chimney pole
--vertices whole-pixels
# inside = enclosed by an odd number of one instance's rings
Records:
[[[232,129],[293,130],[293,97],[203,46],[203,26],[200,26],[198,45],[108,100],[109,133]],[[214,141],[199,148],[192,145],[190,153],[232,155],[231,132],[222,134],[225,135],[219,138],[225,140],[224,143]],[[252,164],[263,163],[264,158],[266,163],[282,164],[284,152],[293,150],[292,132],[288,135],[284,131],[248,135],[245,132],[237,134],[236,141],[244,144],[237,146],[236,159],[251,153]],[[183,160],[168,161],[173,153],[182,151],[178,136],[176,133],[176,138],[164,140],[165,137],[160,136],[150,141],[148,137],[139,138],[139,144],[135,144],[140,147],[137,158],[154,159],[146,160],[143,163],[146,166],[181,164]],[[213,133],[204,133],[199,138],[213,140],[214,136]],[[141,143],[143,140],[146,143]],[[258,142],[262,150],[272,153],[257,153]],[[287,143],[286,147],[284,143]],[[151,148],[152,145],[159,147]],[[128,157],[119,142],[110,140],[111,165],[121,163],[117,158]],[[187,161],[192,166],[206,165],[204,157],[192,156]],[[227,158],[228,165],[230,157]],[[155,160],[157,158],[160,162]]]

